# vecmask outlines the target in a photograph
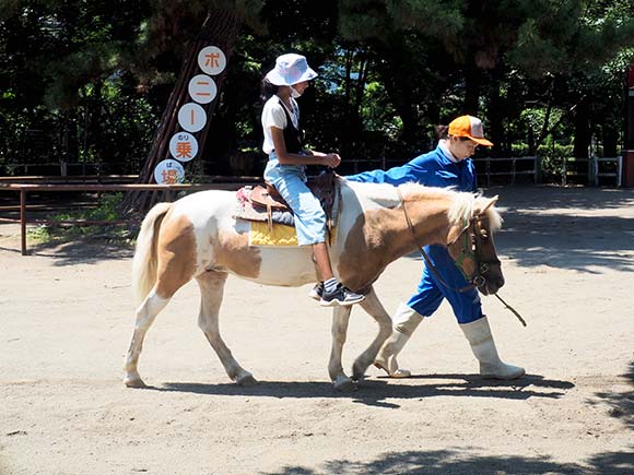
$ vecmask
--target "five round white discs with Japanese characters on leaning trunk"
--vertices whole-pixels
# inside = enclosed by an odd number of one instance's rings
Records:
[[[224,52],[215,46],[207,46],[198,52],[198,67],[204,74],[189,80],[188,92],[193,100],[178,109],[178,124],[183,129],[169,140],[169,155],[154,168],[154,180],[161,185],[180,183],[185,169],[180,162],[189,162],[198,154],[198,141],[193,135],[207,127],[207,112],[201,104],[211,104],[218,95],[218,86],[211,75],[220,74],[226,68]]]

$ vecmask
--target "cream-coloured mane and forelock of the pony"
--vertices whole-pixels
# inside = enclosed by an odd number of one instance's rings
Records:
[[[449,207],[448,218],[451,224],[460,224],[468,222],[473,217],[473,210],[480,205],[484,207],[489,203],[489,199],[481,193],[470,193],[466,191],[457,191],[453,188],[436,188],[425,187],[415,182],[402,185],[401,190],[403,195],[418,195],[425,199],[449,199],[453,201]],[[492,230],[502,227],[502,216],[495,209],[495,205],[489,206],[486,210],[486,217]]]

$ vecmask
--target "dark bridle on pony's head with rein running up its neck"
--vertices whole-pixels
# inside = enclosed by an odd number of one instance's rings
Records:
[[[414,244],[416,245],[416,249],[421,252],[421,254],[423,256],[423,259],[425,260],[425,263],[427,264],[427,268],[430,269],[430,271],[432,271],[432,273],[438,280],[438,282],[441,282],[445,287],[451,288],[454,290],[458,290],[460,293],[471,290],[472,288],[481,288],[484,285],[486,285],[486,277],[488,277],[489,271],[491,270],[491,265],[500,264],[500,260],[497,259],[497,257],[495,259],[492,259],[492,260],[484,260],[481,256],[482,251],[478,245],[479,239],[482,239],[482,240],[490,239],[489,233],[486,231],[485,228],[482,227],[482,219],[485,217],[485,215],[478,214],[476,216],[471,215],[471,217],[469,219],[465,218],[462,230],[460,231],[460,234],[456,237],[456,239],[454,239],[450,242],[447,242],[447,246],[451,246],[458,239],[461,239],[461,241],[462,241],[460,245],[460,253],[456,258],[455,264],[458,268],[458,270],[460,271],[460,273],[465,276],[465,281],[467,281],[469,283],[469,285],[466,285],[465,287],[460,287],[460,288],[455,288],[455,287],[451,287],[449,284],[447,284],[443,280],[443,277],[441,277],[441,275],[438,274],[438,271],[436,271],[434,264],[432,263],[432,260],[430,259],[430,257],[425,252],[423,246],[421,245],[421,242],[416,236],[416,233],[414,231],[414,226],[412,224],[412,221],[411,221],[411,218],[408,214],[407,207],[406,207],[406,201],[404,201],[399,188],[397,188],[397,193],[398,193],[399,200],[400,200],[402,209],[403,209],[406,222],[408,224],[408,227],[410,228]],[[462,269],[461,265],[462,265],[462,262],[465,261],[465,259],[470,259],[476,263],[476,271],[473,272],[473,275],[467,275],[467,273]]]

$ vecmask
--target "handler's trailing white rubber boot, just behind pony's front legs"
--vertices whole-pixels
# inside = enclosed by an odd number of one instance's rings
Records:
[[[392,318],[392,333],[380,347],[374,366],[383,369],[390,378],[409,378],[411,371],[399,368],[397,355],[403,349],[414,330],[423,321],[423,316],[406,304],[401,304]]]

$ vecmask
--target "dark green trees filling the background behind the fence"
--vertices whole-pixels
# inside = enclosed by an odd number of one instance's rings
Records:
[[[0,173],[138,173],[210,9],[243,28],[207,174],[261,174],[259,84],[287,51],[319,72],[301,99],[309,143],[354,169],[412,158],[459,114],[484,120],[493,155],[623,140],[630,0],[0,0]]]

